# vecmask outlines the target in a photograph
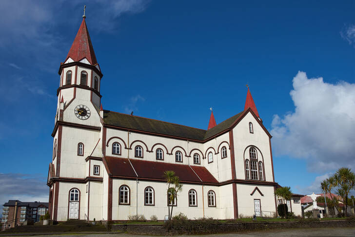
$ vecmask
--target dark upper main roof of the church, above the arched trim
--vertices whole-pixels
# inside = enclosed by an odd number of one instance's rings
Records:
[[[158,133],[197,141],[204,141],[214,135],[217,135],[219,132],[230,128],[237,118],[243,113],[240,112],[230,117],[229,119],[217,124],[212,129],[204,130],[109,110],[103,110],[103,112],[104,125]]]

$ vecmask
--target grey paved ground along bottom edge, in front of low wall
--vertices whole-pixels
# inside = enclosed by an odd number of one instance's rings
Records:
[[[128,234],[74,234],[74,235],[51,235],[50,237],[142,237]],[[256,231],[242,234],[218,234],[208,237],[355,237],[355,227],[352,228],[324,228],[324,229],[290,229],[273,231]],[[21,236],[24,237],[24,236]],[[34,237],[34,236],[32,236]],[[43,237],[43,236],[38,236]],[[179,236],[182,237],[182,236]],[[201,236],[187,236],[201,237]]]

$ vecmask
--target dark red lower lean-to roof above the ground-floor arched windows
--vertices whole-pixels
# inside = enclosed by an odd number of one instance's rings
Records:
[[[109,172],[114,176],[131,177],[147,179],[156,179],[158,181],[164,181],[165,171],[174,171],[183,182],[198,182],[198,183],[211,183],[217,184],[218,181],[213,175],[208,172],[205,167],[200,166],[188,166],[180,164],[171,164],[158,161],[145,161],[141,159],[129,159],[131,161],[134,170],[127,158],[118,158],[112,156],[105,156],[105,160],[109,169]],[[135,173],[137,172],[137,175]],[[201,182],[201,180],[202,182]]]

